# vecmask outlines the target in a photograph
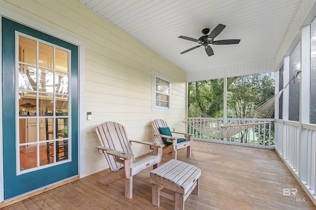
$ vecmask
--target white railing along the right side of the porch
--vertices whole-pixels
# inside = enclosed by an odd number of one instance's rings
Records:
[[[276,151],[316,205],[316,125],[276,120]]]

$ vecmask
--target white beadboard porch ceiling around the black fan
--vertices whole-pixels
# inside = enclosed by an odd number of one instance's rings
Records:
[[[275,58],[301,0],[79,0],[187,72]],[[202,29],[226,28],[215,40],[239,44],[211,45],[208,57],[198,44]]]

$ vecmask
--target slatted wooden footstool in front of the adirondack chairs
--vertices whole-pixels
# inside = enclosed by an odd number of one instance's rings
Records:
[[[176,210],[184,210],[184,202],[191,192],[198,194],[198,178],[201,170],[179,160],[169,160],[150,172],[152,203],[159,206],[159,196],[175,201]],[[169,194],[160,191],[163,187],[174,191]]]

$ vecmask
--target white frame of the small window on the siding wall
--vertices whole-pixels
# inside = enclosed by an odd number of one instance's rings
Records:
[[[161,92],[158,92],[156,91],[156,79],[159,78],[159,79],[163,79],[167,82],[169,82],[169,93],[168,94],[165,94],[165,93],[161,93]],[[152,88],[152,96],[153,96],[153,99],[152,99],[152,111],[160,111],[160,112],[168,112],[171,110],[170,108],[170,101],[171,101],[171,79],[161,73],[158,73],[156,71],[153,70],[153,88]],[[157,106],[156,105],[156,93],[160,93],[160,94],[164,94],[164,95],[167,95],[169,97],[169,100],[168,100],[168,103],[169,103],[169,106],[168,107],[163,107],[163,106]]]

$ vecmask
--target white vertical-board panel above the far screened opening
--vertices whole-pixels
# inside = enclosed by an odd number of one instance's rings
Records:
[[[187,72],[187,82],[249,75],[275,71],[275,59],[252,61],[243,64],[215,67],[206,70]]]

